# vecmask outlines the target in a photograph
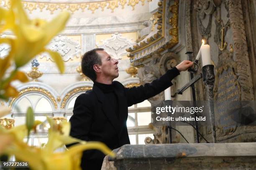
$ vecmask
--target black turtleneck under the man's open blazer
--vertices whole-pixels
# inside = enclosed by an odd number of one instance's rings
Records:
[[[108,106],[113,109],[113,113],[118,117],[118,99],[115,94],[113,84],[102,84],[97,81],[95,81],[94,84],[103,92],[105,95],[104,102],[106,102]]]

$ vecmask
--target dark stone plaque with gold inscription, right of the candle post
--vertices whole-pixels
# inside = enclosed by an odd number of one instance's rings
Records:
[[[223,128],[224,134],[231,134],[236,130],[237,123],[233,121],[233,116],[228,112],[225,101],[240,100],[241,92],[237,81],[237,76],[233,71],[233,67],[221,68],[218,72],[218,83],[215,100],[217,100],[217,121]]]

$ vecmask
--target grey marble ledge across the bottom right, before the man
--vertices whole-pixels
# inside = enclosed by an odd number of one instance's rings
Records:
[[[163,157],[256,157],[256,143],[124,145],[114,152],[116,157],[109,157],[109,161]]]

